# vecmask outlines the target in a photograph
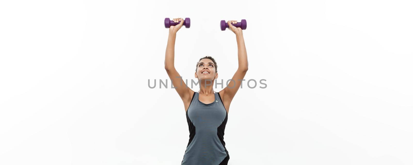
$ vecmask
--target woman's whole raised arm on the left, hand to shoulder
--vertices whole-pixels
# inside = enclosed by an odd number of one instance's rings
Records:
[[[182,18],[173,19],[173,21],[181,22],[176,26],[169,27],[168,44],[166,45],[165,52],[165,70],[166,73],[168,73],[169,79],[172,80],[172,84],[175,87],[176,92],[178,92],[179,96],[184,101],[192,97],[192,95],[190,95],[192,90],[189,87],[186,87],[185,82],[180,77],[174,66],[176,32],[178,32],[178,30],[182,27],[184,21]]]

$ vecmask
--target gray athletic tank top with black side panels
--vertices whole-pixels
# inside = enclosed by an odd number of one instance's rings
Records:
[[[205,104],[194,92],[186,111],[190,139],[181,165],[226,165],[229,160],[225,148],[224,131],[228,113],[219,93],[215,101]]]

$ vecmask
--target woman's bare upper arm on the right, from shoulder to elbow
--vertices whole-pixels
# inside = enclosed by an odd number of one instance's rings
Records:
[[[235,93],[237,93],[238,89],[240,88],[242,80],[244,79],[246,73],[247,69],[238,68],[228,85],[221,91],[223,97],[225,98],[225,102],[228,101],[230,103],[232,101]]]

